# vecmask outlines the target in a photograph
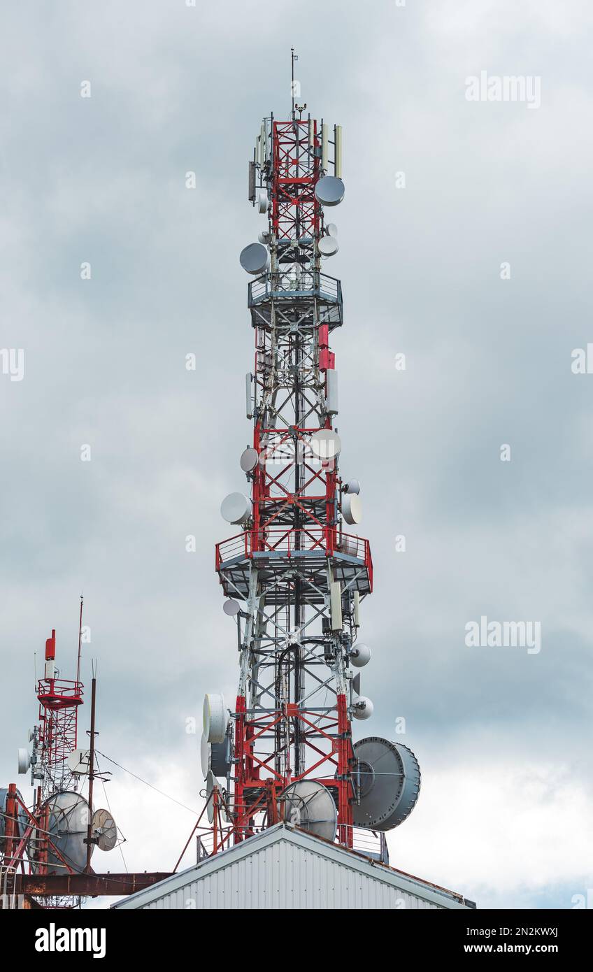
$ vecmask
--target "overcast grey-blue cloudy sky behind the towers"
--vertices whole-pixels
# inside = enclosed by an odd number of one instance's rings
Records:
[[[129,870],[173,866],[200,803],[187,721],[235,690],[214,544],[250,437],[238,254],[294,45],[307,111],[344,126],[337,425],[375,566],[358,735],[404,716],[423,772],[392,863],[480,907],[593,887],[593,376],[572,370],[593,342],[592,26],[586,0],[5,6],[0,347],[24,371],[3,357],[0,784],[52,627],[74,671],[84,591],[99,750],[178,801],[103,758]],[[468,100],[482,71],[541,79],[541,104]],[[481,616],[540,622],[541,650],[467,646]]]

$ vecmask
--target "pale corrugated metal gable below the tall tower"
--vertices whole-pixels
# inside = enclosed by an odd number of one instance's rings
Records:
[[[461,895],[277,824],[124,898],[129,909],[458,909]]]

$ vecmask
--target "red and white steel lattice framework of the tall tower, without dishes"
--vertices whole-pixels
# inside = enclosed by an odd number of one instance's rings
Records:
[[[313,439],[333,429],[331,332],[343,321],[339,280],[322,273],[326,232],[315,187],[317,121],[265,119],[258,172],[267,192],[270,265],[249,286],[255,331],[252,515],[217,544],[227,597],[244,601],[227,818],[237,843],[283,814],[292,782],[329,787],[337,840],[352,846],[357,799],[349,656],[361,599],[372,590],[366,539],[343,531],[338,454]],[[337,600],[336,600],[337,599]],[[215,840],[216,850],[216,840]]]

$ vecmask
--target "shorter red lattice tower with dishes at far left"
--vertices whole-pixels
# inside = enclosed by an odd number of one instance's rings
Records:
[[[104,779],[94,771],[95,678],[90,749],[78,748],[84,688],[82,631],[81,598],[76,678],[64,678],[56,667],[52,630],[46,640],[43,676],[36,684],[39,709],[37,724],[28,734],[31,751],[27,746],[18,749],[18,773],[26,775],[30,770],[32,803],[27,805],[15,783],[0,787],[0,908],[17,907],[17,892],[26,888],[28,900],[37,899],[38,907],[76,907],[82,894],[72,878],[93,874],[90,858],[95,847],[111,851],[117,844],[111,813],[92,809],[92,782]],[[82,793],[86,782],[87,797]],[[92,893],[90,879],[88,887]]]

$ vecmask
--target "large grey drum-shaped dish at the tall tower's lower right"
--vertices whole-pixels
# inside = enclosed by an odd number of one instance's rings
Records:
[[[355,743],[360,760],[361,802],[354,804],[355,827],[391,830],[408,817],[420,792],[420,767],[402,743],[370,736]]]

